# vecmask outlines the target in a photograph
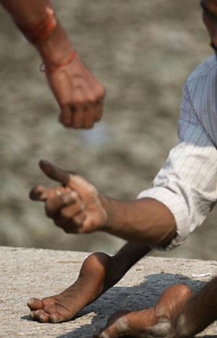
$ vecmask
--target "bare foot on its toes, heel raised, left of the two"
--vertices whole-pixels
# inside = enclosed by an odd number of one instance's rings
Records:
[[[108,289],[105,283],[110,263],[109,255],[101,252],[90,255],[84,261],[77,281],[68,289],[42,300],[30,298],[27,301],[31,318],[53,323],[72,319],[82,308]]]

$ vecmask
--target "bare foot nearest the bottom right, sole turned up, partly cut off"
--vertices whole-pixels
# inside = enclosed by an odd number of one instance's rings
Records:
[[[164,291],[156,306],[141,311],[119,311],[94,337],[175,337],[177,318],[190,295],[191,290],[186,285],[172,285]]]

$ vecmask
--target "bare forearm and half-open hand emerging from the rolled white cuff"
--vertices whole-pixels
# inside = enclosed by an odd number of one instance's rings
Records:
[[[163,203],[151,198],[130,202],[107,198],[83,177],[47,161],[41,169],[63,186],[34,188],[30,197],[45,201],[46,214],[68,233],[103,231],[144,246],[167,245],[175,236],[174,217]]]

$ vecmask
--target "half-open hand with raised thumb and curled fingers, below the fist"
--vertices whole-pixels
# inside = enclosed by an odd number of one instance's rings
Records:
[[[107,221],[107,214],[96,188],[83,177],[66,172],[41,160],[45,175],[61,185],[53,188],[36,186],[30,198],[45,202],[47,217],[66,233],[88,233],[98,230]]]

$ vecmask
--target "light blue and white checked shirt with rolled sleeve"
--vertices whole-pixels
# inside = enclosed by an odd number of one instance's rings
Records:
[[[205,60],[188,77],[178,121],[179,143],[138,198],[164,203],[177,226],[167,247],[181,244],[207,217],[217,201],[217,58]]]

